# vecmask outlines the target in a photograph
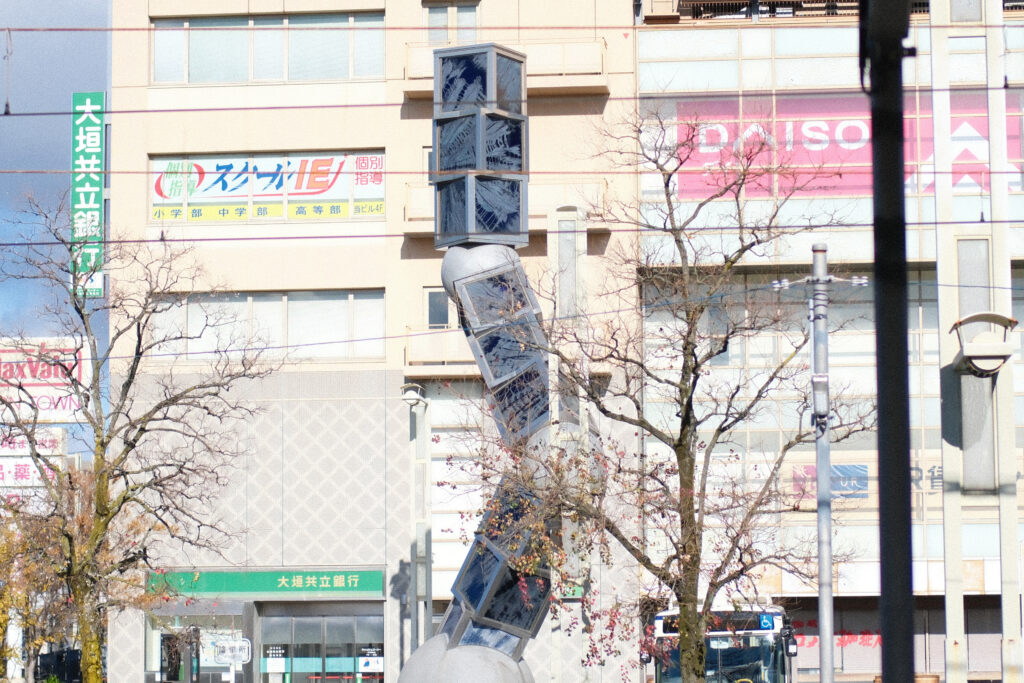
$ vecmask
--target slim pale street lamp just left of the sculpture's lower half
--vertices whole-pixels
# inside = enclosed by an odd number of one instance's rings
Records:
[[[423,600],[423,634],[429,638],[433,623],[433,591],[431,587],[430,532],[430,459],[427,455],[427,407],[430,401],[424,388],[411,382],[402,384],[401,399],[412,411],[416,444],[413,460],[413,524],[416,536],[412,544],[409,592],[410,652],[420,644],[420,600]]]

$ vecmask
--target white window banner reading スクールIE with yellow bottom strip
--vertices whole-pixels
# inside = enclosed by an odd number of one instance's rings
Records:
[[[312,152],[150,161],[154,221],[384,217],[384,154]]]

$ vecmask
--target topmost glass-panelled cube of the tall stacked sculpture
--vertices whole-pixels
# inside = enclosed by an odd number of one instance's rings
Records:
[[[481,108],[525,116],[525,63],[495,43],[434,50],[434,117]]]

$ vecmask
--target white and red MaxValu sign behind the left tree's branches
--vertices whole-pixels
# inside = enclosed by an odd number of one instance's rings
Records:
[[[84,349],[67,339],[0,342],[0,405],[4,420],[82,420],[83,391],[92,377]]]

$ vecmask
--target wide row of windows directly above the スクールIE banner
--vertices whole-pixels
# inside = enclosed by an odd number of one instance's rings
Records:
[[[153,23],[155,83],[384,76],[384,14],[211,16]]]

